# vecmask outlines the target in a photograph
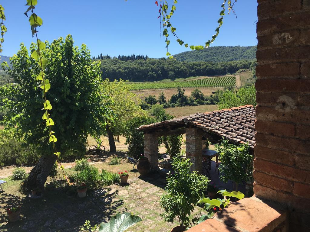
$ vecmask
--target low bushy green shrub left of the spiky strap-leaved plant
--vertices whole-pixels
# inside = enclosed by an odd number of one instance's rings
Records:
[[[73,181],[78,186],[85,183],[89,189],[98,189],[103,184],[98,168],[90,165],[86,169],[73,174],[70,181]]]

